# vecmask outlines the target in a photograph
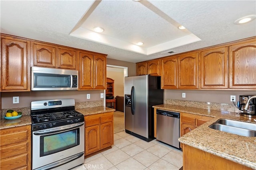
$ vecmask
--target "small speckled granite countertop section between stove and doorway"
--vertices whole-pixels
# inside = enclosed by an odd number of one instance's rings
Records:
[[[76,111],[78,111],[86,116],[86,115],[94,115],[94,114],[98,114],[98,113],[115,111],[115,109],[112,109],[109,107],[104,107],[104,106],[98,106],[98,107],[88,107],[88,108],[76,109]]]

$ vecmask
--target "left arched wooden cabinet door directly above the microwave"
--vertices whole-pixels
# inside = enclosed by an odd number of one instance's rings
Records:
[[[56,46],[32,41],[31,51],[34,66],[56,67]]]

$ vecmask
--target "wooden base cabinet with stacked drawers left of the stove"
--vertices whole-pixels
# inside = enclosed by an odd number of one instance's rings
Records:
[[[0,131],[0,169],[31,169],[31,126]]]

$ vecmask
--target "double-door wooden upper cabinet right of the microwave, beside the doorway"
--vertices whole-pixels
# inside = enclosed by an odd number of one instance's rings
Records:
[[[106,89],[106,55],[79,52],[79,90]]]

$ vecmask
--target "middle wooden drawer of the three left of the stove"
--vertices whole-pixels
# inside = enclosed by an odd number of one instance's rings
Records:
[[[6,145],[0,149],[1,159],[26,152],[28,152],[28,146],[26,142]]]

